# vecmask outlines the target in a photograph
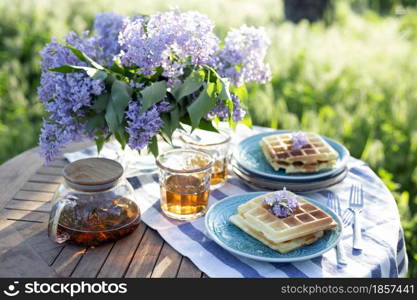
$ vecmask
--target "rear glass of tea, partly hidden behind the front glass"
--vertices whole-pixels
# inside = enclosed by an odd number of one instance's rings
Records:
[[[211,189],[222,187],[227,180],[231,137],[225,131],[195,130],[180,135],[183,148],[209,153],[213,159]]]

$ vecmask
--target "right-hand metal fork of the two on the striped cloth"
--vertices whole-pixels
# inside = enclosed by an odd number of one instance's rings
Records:
[[[353,224],[353,248],[362,249],[362,232],[361,232],[361,220],[359,217],[363,208],[363,188],[361,186],[352,185],[350,188],[349,196],[349,209],[354,214]]]

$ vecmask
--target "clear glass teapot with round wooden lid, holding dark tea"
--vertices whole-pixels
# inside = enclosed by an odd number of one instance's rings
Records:
[[[49,218],[53,241],[95,246],[120,239],[139,226],[139,205],[118,162],[81,159],[64,169],[64,178]]]

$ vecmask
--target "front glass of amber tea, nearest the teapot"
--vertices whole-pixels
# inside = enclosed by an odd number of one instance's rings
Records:
[[[210,193],[213,157],[193,149],[174,149],[158,156],[161,209],[177,220],[204,216]]]

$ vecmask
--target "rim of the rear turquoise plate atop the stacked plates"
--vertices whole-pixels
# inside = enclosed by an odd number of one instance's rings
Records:
[[[345,168],[347,166],[347,161],[350,157],[349,150],[343,144],[339,143],[338,141],[336,141],[334,139],[331,139],[327,136],[323,136],[323,135],[320,135],[320,137],[323,138],[324,140],[326,140],[326,142],[330,141],[334,144],[337,144],[343,150],[343,152],[345,152],[345,154],[346,154],[343,158],[341,158],[339,166],[337,168],[333,168],[331,170],[322,171],[322,172],[296,174],[297,176],[294,176],[293,174],[285,174],[285,175],[269,174],[269,173],[259,171],[257,169],[248,169],[246,166],[244,166],[239,161],[239,159],[238,159],[238,158],[240,158],[239,149],[241,149],[242,143],[244,143],[248,139],[252,139],[252,138],[257,137],[257,136],[269,136],[269,135],[273,135],[273,134],[277,134],[277,133],[289,133],[289,132],[295,132],[295,130],[279,129],[279,130],[261,132],[261,133],[258,133],[258,134],[251,135],[251,136],[241,140],[236,145],[235,149],[233,150],[233,159],[236,161],[236,163],[240,167],[242,167],[247,172],[250,172],[250,173],[256,174],[258,176],[262,176],[262,177],[271,179],[271,180],[282,180],[282,181],[288,181],[288,182],[295,182],[295,181],[303,182],[303,181],[318,180],[318,179],[323,178],[323,177],[333,176],[335,173],[341,172],[343,170],[343,168]],[[334,149],[334,147],[332,145],[330,145],[330,146]]]

